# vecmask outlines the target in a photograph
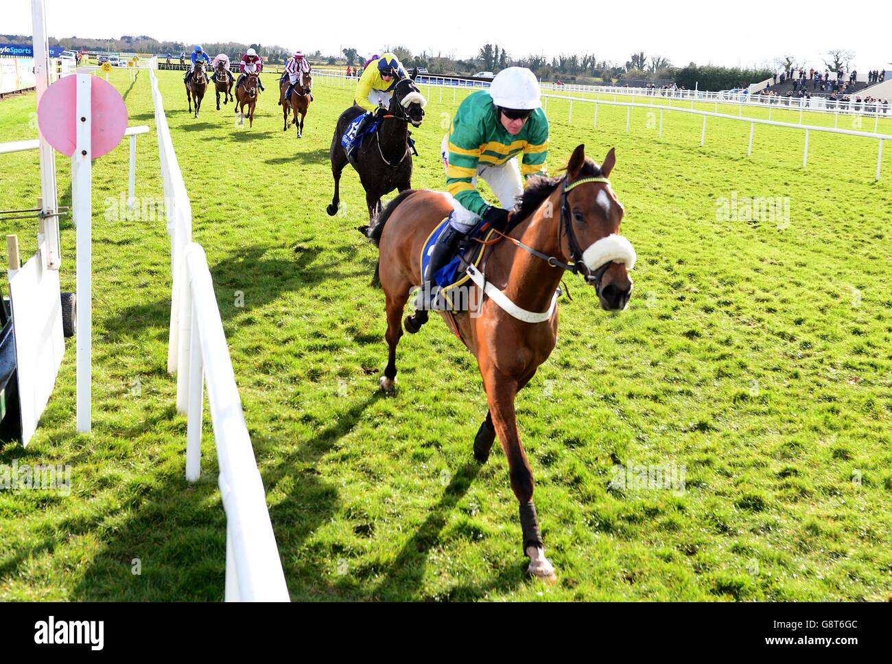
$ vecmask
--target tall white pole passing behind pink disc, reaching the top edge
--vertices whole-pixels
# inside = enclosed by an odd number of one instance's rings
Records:
[[[31,25],[34,46],[34,76],[37,90],[37,104],[50,84],[49,47],[46,40],[46,12],[44,0],[31,0]],[[16,61],[18,62],[18,61]],[[55,151],[46,142],[38,128],[40,138],[40,196],[43,199],[44,237],[46,241],[46,264],[50,270],[59,270],[62,265],[62,247],[59,243],[59,195],[55,178]]]

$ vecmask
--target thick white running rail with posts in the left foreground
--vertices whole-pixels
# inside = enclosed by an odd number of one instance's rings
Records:
[[[289,600],[266,492],[201,245],[192,242],[192,207],[173,149],[158,79],[149,70],[170,236],[173,288],[168,370],[177,372],[177,409],[188,416],[186,479],[201,473],[202,409],[207,378],[219,488],[227,515],[226,600]]]

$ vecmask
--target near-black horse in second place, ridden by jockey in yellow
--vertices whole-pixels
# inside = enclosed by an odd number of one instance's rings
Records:
[[[414,76],[414,72],[413,72]],[[427,102],[418,92],[413,79],[402,79],[393,88],[390,108],[378,117],[381,125],[375,136],[368,137],[356,149],[354,168],[359,173],[359,181],[366,190],[368,218],[373,220],[381,210],[381,196],[393,189],[405,191],[411,187],[412,155],[409,150],[409,122],[419,127],[425,117]],[[341,171],[347,165],[347,154],[341,145],[341,137],[350,123],[365,111],[353,105],[341,113],[332,137],[329,156],[332,162],[332,175],[335,177],[335,195],[326,208],[330,216],[335,216],[341,203]]]

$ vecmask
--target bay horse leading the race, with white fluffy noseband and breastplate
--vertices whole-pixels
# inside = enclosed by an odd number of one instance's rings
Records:
[[[546,581],[555,570],[545,557],[533,505],[533,470],[517,430],[515,397],[548,359],[558,339],[558,284],[565,270],[582,274],[595,287],[602,309],[623,310],[632,295],[628,271],[635,251],[619,235],[623,205],[609,185],[616,162],[613,149],[598,166],[579,145],[561,178],[535,178],[519,196],[508,230],[475,272],[479,310],[441,311],[453,332],[476,357],[489,411],[474,441],[476,461],[489,458],[496,438],[505,456],[511,488],[520,505],[527,571]],[[387,367],[381,388],[390,392],[396,378],[396,349],[401,318],[412,286],[422,285],[420,253],[425,240],[453,209],[451,196],[427,190],[401,192],[376,222],[365,229],[378,246],[380,285],[387,308]],[[559,214],[553,211],[560,211]],[[480,295],[484,284],[485,297]],[[406,331],[417,332],[427,311],[406,319]],[[424,320],[419,320],[424,319]],[[413,320],[414,319],[414,320]]]

